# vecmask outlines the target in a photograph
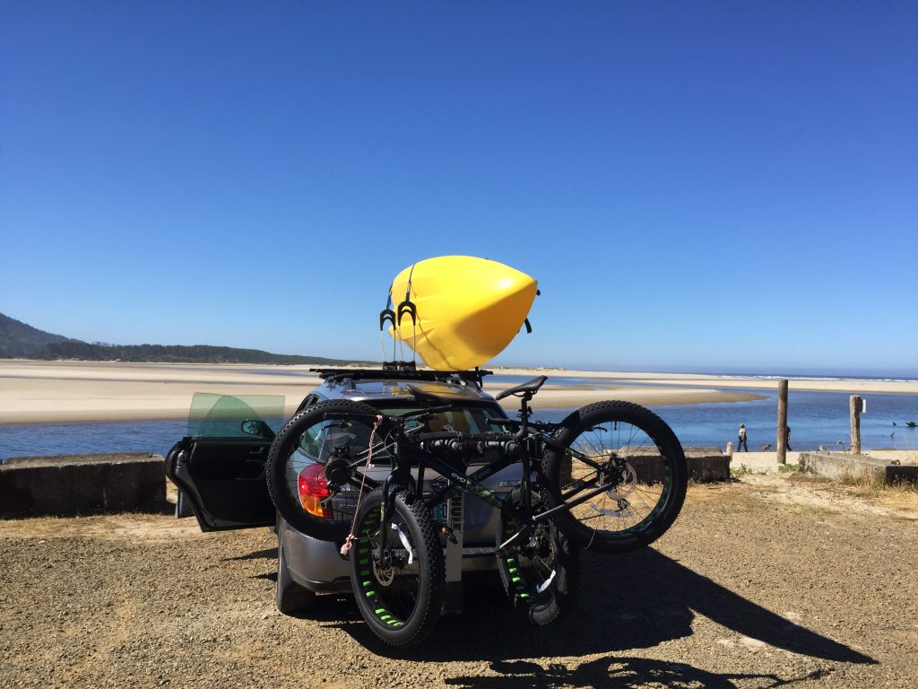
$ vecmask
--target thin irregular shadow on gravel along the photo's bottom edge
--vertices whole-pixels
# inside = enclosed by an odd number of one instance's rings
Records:
[[[445,682],[469,689],[506,689],[509,684],[544,689],[562,686],[628,689],[648,685],[735,689],[737,686],[748,686],[750,681],[757,681],[756,686],[770,689],[810,682],[825,676],[825,672],[820,670],[790,679],[782,679],[774,674],[716,674],[699,670],[684,662],[650,661],[644,658],[600,658],[598,661],[585,662],[573,669],[554,663],[543,668],[529,661],[498,661],[492,662],[490,667],[492,671],[499,672],[499,676],[456,677]],[[741,683],[737,685],[733,683],[734,680]],[[759,683],[763,680],[767,683]]]

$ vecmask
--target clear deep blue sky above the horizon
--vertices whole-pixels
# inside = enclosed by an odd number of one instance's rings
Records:
[[[0,0],[0,312],[378,358],[410,263],[498,364],[918,373],[914,2]]]

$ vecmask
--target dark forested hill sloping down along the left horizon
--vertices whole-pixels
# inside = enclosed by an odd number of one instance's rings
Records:
[[[308,364],[340,366],[365,361],[324,356],[272,354],[209,344],[89,344],[45,333],[0,313],[0,358],[82,359],[84,361],[162,362],[173,364]]]

